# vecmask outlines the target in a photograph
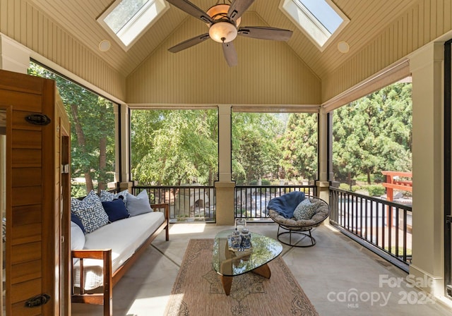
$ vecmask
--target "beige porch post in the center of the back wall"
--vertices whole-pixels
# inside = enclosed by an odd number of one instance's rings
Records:
[[[234,224],[234,187],[231,162],[231,105],[218,105],[218,181],[216,189],[217,225]]]

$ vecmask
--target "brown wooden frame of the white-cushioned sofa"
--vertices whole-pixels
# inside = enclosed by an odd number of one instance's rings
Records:
[[[153,209],[164,209],[165,221],[152,233],[141,245],[135,253],[124,262],[114,273],[112,273],[112,250],[72,250],[72,259],[78,258],[80,261],[80,293],[75,293],[73,286],[73,277],[71,278],[71,296],[72,303],[88,303],[96,305],[104,305],[104,316],[113,315],[113,287],[118,283],[121,277],[129,270],[134,262],[142,255],[145,249],[153,242],[157,235],[165,229],[165,240],[169,240],[169,205],[168,204],[152,204]],[[83,280],[83,259],[103,260],[103,292],[102,293],[85,293],[85,283]],[[72,262],[72,260],[71,260]]]

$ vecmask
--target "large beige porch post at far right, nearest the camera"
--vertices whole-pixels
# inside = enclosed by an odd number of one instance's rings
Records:
[[[422,289],[444,296],[444,45],[410,56],[412,73],[412,265]],[[450,194],[447,192],[446,194]]]

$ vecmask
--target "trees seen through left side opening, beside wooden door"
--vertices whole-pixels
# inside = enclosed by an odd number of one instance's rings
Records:
[[[114,179],[116,104],[37,63],[29,75],[55,80],[71,121],[71,196],[105,190]]]

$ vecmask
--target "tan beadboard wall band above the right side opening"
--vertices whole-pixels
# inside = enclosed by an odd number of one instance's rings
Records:
[[[339,95],[452,30],[451,0],[421,0],[335,71],[322,78],[322,102]]]

